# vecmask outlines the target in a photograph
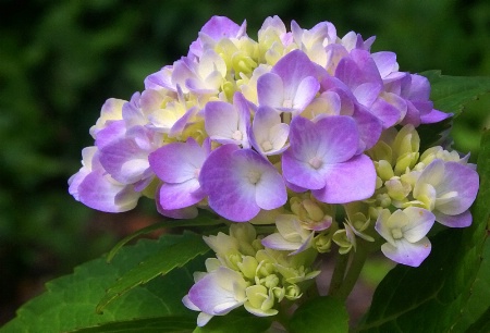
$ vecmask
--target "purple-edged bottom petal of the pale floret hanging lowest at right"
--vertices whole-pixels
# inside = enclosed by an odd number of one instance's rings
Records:
[[[406,239],[395,240],[396,247],[390,243],[381,245],[381,251],[391,260],[412,267],[419,267],[430,254],[431,244],[427,237],[417,243],[408,243]]]

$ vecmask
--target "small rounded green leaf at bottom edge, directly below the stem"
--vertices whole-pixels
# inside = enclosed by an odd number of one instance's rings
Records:
[[[316,297],[297,308],[289,329],[292,333],[345,333],[348,332],[348,314],[340,299]]]

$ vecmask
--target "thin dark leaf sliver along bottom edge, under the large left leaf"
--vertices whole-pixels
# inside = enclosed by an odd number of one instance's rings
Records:
[[[192,317],[160,317],[110,322],[70,333],[184,333],[192,332],[196,320]]]

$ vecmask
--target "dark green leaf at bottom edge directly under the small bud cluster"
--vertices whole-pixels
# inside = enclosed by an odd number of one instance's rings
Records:
[[[238,308],[225,316],[215,316],[203,328],[196,328],[194,333],[260,333],[266,332],[271,322],[270,318],[256,317]]]

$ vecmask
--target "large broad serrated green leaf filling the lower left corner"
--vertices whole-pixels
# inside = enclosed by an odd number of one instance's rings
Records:
[[[103,314],[96,313],[97,304],[114,281],[148,256],[170,248],[186,237],[163,235],[158,240],[142,239],[134,246],[121,249],[110,264],[100,258],[79,266],[73,274],[47,283],[47,292],[21,307],[17,317],[0,332],[70,332],[111,322],[176,316],[188,316],[195,320],[196,312],[183,306],[182,297],[194,284],[193,272],[205,270],[203,257],[133,288],[108,305]]]

